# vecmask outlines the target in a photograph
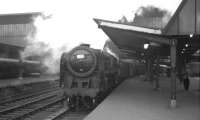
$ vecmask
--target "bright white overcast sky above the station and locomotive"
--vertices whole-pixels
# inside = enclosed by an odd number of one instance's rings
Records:
[[[0,14],[46,12],[51,20],[36,25],[38,39],[52,46],[86,42],[101,48],[107,36],[92,20],[118,20],[123,15],[132,19],[140,6],[154,5],[174,12],[181,0],[2,0]],[[41,22],[41,23],[40,23]],[[42,37],[41,37],[42,36]]]

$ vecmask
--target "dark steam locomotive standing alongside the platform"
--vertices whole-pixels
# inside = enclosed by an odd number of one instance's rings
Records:
[[[60,85],[69,107],[94,106],[102,93],[117,81],[118,61],[87,44],[63,53],[60,62]]]

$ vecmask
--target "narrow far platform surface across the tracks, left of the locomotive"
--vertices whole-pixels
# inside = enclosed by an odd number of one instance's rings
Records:
[[[44,82],[44,81],[54,81],[58,80],[58,76],[40,76],[40,77],[26,77],[23,79],[0,79],[0,88],[18,86],[30,83]]]

